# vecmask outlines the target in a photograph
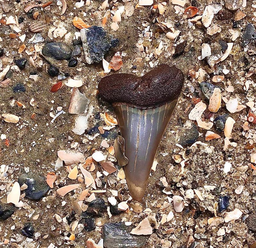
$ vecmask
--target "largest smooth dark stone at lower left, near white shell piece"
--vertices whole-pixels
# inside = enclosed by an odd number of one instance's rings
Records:
[[[26,197],[33,200],[38,200],[50,190],[46,183],[45,177],[39,176],[36,173],[24,173],[20,175],[18,180],[20,186],[27,184],[28,188],[24,190]]]

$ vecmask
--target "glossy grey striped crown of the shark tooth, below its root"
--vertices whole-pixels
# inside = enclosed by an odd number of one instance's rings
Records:
[[[150,109],[113,104],[125,140],[125,155],[129,163],[124,166],[124,171],[134,200],[141,201],[144,196],[157,148],[176,102],[175,99]]]

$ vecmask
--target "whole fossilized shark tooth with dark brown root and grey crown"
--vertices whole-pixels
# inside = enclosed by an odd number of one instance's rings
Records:
[[[103,100],[112,103],[125,140],[125,179],[134,200],[143,199],[150,169],[184,82],[175,66],[158,66],[142,77],[113,74],[100,80]]]

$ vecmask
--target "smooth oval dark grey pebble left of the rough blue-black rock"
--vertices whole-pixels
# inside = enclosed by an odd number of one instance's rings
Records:
[[[51,42],[44,45],[42,54],[57,60],[69,60],[72,54],[70,47],[64,42]]]

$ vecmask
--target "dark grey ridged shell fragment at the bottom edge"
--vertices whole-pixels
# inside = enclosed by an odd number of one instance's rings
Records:
[[[132,227],[124,223],[106,223],[103,225],[103,246],[106,248],[135,248],[146,244],[147,237],[130,234]]]

